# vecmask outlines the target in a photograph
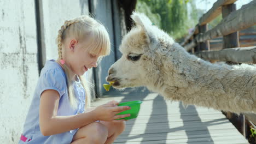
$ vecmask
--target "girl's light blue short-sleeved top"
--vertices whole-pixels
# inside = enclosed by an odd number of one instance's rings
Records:
[[[78,77],[77,77],[78,78]],[[54,89],[60,94],[59,107],[57,110],[58,116],[69,116],[77,115],[77,113],[84,112],[85,106],[85,91],[80,83],[80,80],[77,79],[72,83],[74,88],[74,95],[78,99],[78,109],[72,109],[69,104],[68,91],[66,84],[66,74],[64,73],[61,66],[56,63],[53,59],[46,61],[44,68],[42,69],[39,80],[37,82],[36,90],[31,101],[30,109],[28,110],[26,121],[24,124],[24,130],[22,135],[27,138],[24,142],[21,143],[71,143],[74,134],[78,129],[71,131],[66,131],[65,133],[43,136],[39,128],[39,104],[40,104],[40,95],[46,89]]]

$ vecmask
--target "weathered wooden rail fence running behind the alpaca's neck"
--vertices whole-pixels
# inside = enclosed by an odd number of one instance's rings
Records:
[[[239,31],[256,25],[256,0],[236,10],[237,0],[218,0],[203,14],[194,31],[181,43],[185,50],[210,62],[256,63],[256,46],[240,47]],[[223,20],[208,30],[207,24],[222,14]],[[210,51],[210,40],[223,37],[221,50]],[[252,41],[250,41],[252,42]],[[256,115],[239,117],[225,113],[232,123],[248,138],[250,127],[256,124]]]

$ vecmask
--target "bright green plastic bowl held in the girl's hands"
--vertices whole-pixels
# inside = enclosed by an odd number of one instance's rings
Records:
[[[119,119],[128,120],[128,119],[136,118],[138,116],[138,112],[139,112],[139,109],[141,107],[141,103],[142,103],[142,101],[140,101],[140,100],[127,101],[125,103],[119,103],[118,106],[130,106],[131,107],[130,110],[126,110],[126,111],[123,111],[123,112],[120,112],[120,113],[117,114],[117,115],[125,115],[125,114],[130,113],[131,116],[130,117],[125,117],[125,118],[119,118]],[[117,119],[117,120],[119,120],[119,119]]]

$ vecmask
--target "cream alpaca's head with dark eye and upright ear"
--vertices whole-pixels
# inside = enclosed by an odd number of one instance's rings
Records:
[[[123,56],[108,71],[107,81],[114,81],[115,88],[147,86],[162,67],[166,47],[174,43],[144,14],[133,13],[131,18],[136,26],[122,40]]]

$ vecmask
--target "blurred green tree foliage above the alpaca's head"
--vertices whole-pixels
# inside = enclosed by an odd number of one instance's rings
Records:
[[[188,15],[188,4],[191,14]],[[198,20],[194,0],[138,0],[136,11],[146,14],[155,25],[180,39]],[[188,18],[191,19],[188,19]]]

